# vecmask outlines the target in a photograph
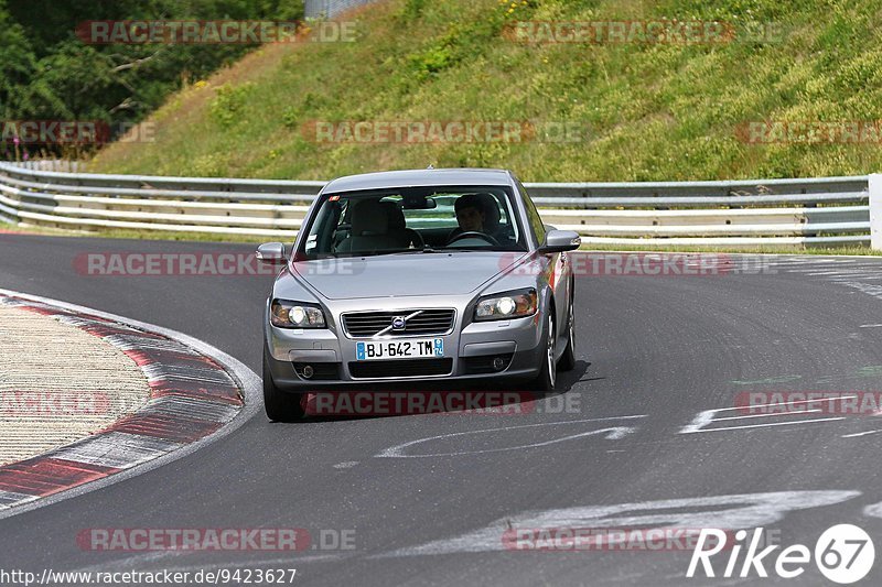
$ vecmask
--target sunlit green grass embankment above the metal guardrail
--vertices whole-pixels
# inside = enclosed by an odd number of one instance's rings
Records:
[[[99,172],[326,180],[367,171],[501,166],[524,181],[675,181],[864,174],[879,144],[745,144],[747,121],[882,119],[880,0],[387,0],[355,43],[266,46],[117,143]],[[779,42],[546,44],[518,20],[720,20],[784,25]],[[315,144],[310,121],[568,121],[574,143]]]

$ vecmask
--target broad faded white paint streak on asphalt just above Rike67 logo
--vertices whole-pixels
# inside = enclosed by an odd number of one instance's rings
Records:
[[[420,556],[452,553],[502,552],[512,530],[558,530],[577,528],[756,528],[781,521],[788,512],[832,506],[860,496],[860,491],[778,491],[743,493],[658,501],[639,501],[615,506],[587,506],[525,512],[496,520],[490,525],[419,546],[383,553],[372,558]],[[695,511],[695,508],[703,508]]]

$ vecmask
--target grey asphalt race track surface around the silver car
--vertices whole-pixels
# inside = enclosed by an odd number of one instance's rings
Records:
[[[88,276],[73,263],[83,252],[251,249],[0,235],[0,287],[173,328],[259,372],[271,278]],[[702,528],[734,515],[785,546],[814,550],[824,530],[852,523],[882,547],[882,418],[710,422],[741,415],[731,409],[742,392],[881,390],[881,278],[875,260],[796,257],[761,274],[581,278],[578,367],[545,412],[297,424],[259,413],[180,460],[0,521],[0,568],[297,568],[302,585],[831,585],[811,563],[796,580],[687,579],[689,551],[513,551],[503,534],[646,528],[648,513]],[[718,409],[729,410],[700,416]],[[430,437],[440,438],[400,448]],[[354,530],[356,547],[80,548],[77,534],[94,528]],[[718,575],[724,565],[714,558]],[[867,584],[882,581],[880,568]]]

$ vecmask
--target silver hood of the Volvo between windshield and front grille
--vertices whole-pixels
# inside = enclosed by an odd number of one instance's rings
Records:
[[[298,261],[295,274],[330,300],[459,295],[525,257],[524,252],[434,252]]]

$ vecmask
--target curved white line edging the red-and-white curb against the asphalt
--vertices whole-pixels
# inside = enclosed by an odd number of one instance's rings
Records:
[[[136,328],[140,328],[143,330],[152,331],[160,334],[162,336],[166,336],[174,340],[179,340],[184,345],[197,350],[198,352],[205,355],[206,357],[211,357],[215,361],[217,361],[220,366],[223,366],[230,374],[233,374],[238,381],[237,384],[243,391],[245,395],[245,406],[239,411],[239,415],[233,418],[228,424],[219,428],[214,434],[211,434],[195,443],[189,444],[179,450],[174,450],[172,453],[168,453],[163,456],[160,456],[153,460],[144,463],[143,465],[139,465],[138,467],[130,468],[117,475],[111,475],[109,477],[105,477],[103,479],[98,479],[96,481],[88,482],[86,485],[75,487],[74,489],[69,489],[66,491],[62,491],[61,493],[56,493],[54,496],[50,496],[47,498],[41,498],[30,503],[24,503],[21,506],[17,506],[14,508],[2,510],[0,509],[0,520],[4,518],[11,518],[12,515],[18,515],[20,513],[24,513],[36,508],[42,508],[45,506],[51,506],[53,503],[57,503],[65,499],[74,498],[77,496],[82,496],[84,493],[88,493],[90,491],[95,491],[97,489],[103,489],[114,483],[118,483],[120,481],[125,481],[143,472],[157,469],[163,465],[168,465],[169,463],[173,463],[180,458],[189,456],[200,448],[207,446],[208,444],[214,443],[215,441],[227,436],[228,434],[235,432],[239,426],[245,424],[248,420],[255,416],[258,411],[260,410],[260,398],[262,394],[262,383],[260,378],[251,371],[248,367],[246,367],[239,360],[230,357],[226,352],[206,344],[197,338],[193,338],[192,336],[185,335],[183,333],[179,333],[178,330],[172,330],[170,328],[164,328],[162,326],[155,326],[152,324],[148,324],[140,320],[135,320],[131,318],[126,318],[123,316],[118,316],[116,314],[109,314],[107,312],[101,312],[98,309],[79,306],[76,304],[69,304],[67,302],[61,302],[57,300],[51,300],[47,297],[42,297],[37,295],[30,295],[23,294],[20,292],[12,292],[9,290],[0,289],[0,294],[8,295],[10,297],[20,297],[22,300],[28,300],[30,302],[36,302],[41,304],[49,304],[62,309],[68,309],[72,312],[80,312],[83,314],[92,314],[93,316],[99,316],[101,318],[106,318],[109,320],[118,322],[123,325],[135,326]]]

